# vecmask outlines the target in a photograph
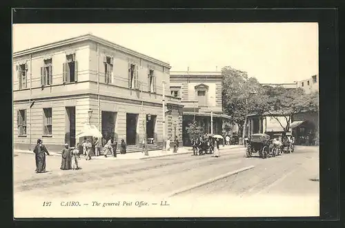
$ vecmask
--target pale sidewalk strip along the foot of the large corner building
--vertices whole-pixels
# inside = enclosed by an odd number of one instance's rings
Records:
[[[219,149],[235,149],[235,148],[241,148],[243,145],[226,145],[225,147],[220,146]],[[33,154],[32,151],[29,150],[20,150],[20,149],[14,149],[14,154],[16,153],[26,153],[26,154]],[[113,157],[110,154],[107,157],[104,156],[92,156],[92,159],[107,159],[107,160],[119,160],[119,159],[148,159],[148,158],[160,158],[165,156],[176,156],[179,154],[192,154],[193,149],[192,147],[179,147],[179,150],[177,153],[173,153],[173,149],[171,148],[170,151],[162,151],[162,150],[154,150],[148,152],[148,156],[145,156],[144,153],[141,152],[134,152],[134,153],[127,153],[127,154],[117,154],[117,157]],[[51,156],[61,156],[61,154],[57,152],[50,152]]]

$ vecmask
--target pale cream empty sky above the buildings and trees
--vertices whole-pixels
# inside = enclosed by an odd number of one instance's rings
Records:
[[[170,63],[171,71],[248,72],[260,83],[318,74],[317,23],[14,24],[13,52],[92,33]]]

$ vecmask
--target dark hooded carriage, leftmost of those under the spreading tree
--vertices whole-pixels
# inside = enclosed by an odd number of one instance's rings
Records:
[[[246,147],[246,156],[259,153],[260,158],[267,158],[270,154],[270,136],[268,134],[252,134]]]

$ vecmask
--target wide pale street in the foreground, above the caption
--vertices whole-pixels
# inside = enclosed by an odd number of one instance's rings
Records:
[[[60,201],[61,198],[110,200],[119,196],[155,196],[162,199],[171,196],[171,200],[192,198],[195,203],[212,197],[223,197],[224,200],[231,197],[232,202],[235,198],[270,198],[273,202],[275,198],[295,197],[311,198],[313,205],[306,205],[318,213],[318,147],[297,146],[293,154],[267,159],[256,157],[256,154],[246,158],[244,148],[223,149],[219,158],[181,154],[146,160],[86,161],[81,157],[82,169],[77,171],[60,170],[59,156],[48,156],[48,172],[45,174],[34,173],[33,154],[16,155],[14,209],[24,209],[23,199],[39,201],[42,197]],[[212,181],[217,176],[244,167],[248,169]],[[206,180],[211,181],[207,183]],[[202,184],[199,186],[197,183]]]

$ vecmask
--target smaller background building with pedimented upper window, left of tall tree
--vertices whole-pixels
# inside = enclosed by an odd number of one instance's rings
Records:
[[[193,121],[204,127],[202,133],[222,134],[223,119],[229,116],[222,110],[221,81],[221,72],[170,72],[171,95],[184,105],[184,145],[190,145],[186,127]]]

